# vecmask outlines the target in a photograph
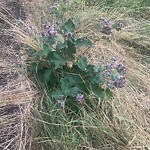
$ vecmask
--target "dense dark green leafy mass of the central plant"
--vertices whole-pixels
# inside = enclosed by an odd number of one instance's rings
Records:
[[[68,110],[78,109],[78,94],[82,93],[84,100],[89,95],[97,100],[106,100],[112,95],[109,89],[102,88],[104,81],[101,66],[91,65],[86,57],[77,55],[78,50],[91,47],[92,42],[87,38],[77,39],[74,31],[75,24],[69,19],[60,27],[59,34],[45,35],[42,50],[34,51],[35,61],[30,68],[40,85],[47,87],[46,92],[53,104],[59,100],[57,106]],[[60,99],[60,95],[63,98]]]

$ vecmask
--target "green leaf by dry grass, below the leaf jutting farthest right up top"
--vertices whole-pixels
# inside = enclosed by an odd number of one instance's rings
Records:
[[[83,70],[83,71],[87,71],[87,59],[86,57],[80,57],[79,61],[76,63],[77,66]]]

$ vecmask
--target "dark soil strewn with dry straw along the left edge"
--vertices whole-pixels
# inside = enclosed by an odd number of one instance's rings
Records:
[[[19,0],[2,0],[0,12],[10,20],[25,20]],[[10,15],[11,14],[11,15]],[[29,144],[27,119],[34,91],[20,69],[24,63],[18,43],[7,33],[10,25],[0,20],[0,150],[26,150]],[[7,33],[7,34],[6,34]],[[27,138],[27,139],[26,139]]]

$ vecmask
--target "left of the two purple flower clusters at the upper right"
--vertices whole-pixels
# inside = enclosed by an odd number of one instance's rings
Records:
[[[112,33],[111,21],[105,19],[104,17],[100,17],[100,21],[103,22],[102,32],[108,35],[111,34]]]

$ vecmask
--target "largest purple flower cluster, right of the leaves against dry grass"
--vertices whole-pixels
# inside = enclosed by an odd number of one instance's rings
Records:
[[[104,76],[108,81],[107,87],[113,88],[123,88],[125,85],[125,73],[126,67],[124,64],[117,64],[117,58],[112,57],[112,62],[106,65],[104,70]]]

